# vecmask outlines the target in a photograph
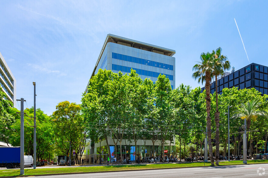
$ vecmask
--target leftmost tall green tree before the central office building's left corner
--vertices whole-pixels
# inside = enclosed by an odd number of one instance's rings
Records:
[[[90,79],[87,93],[83,94],[81,104],[84,121],[89,126],[87,130],[91,141],[98,142],[99,138],[103,137],[108,147],[108,155],[111,155],[108,142],[111,131],[107,128],[113,116],[109,93],[114,78],[117,78],[117,74],[99,69],[98,73]],[[115,152],[117,152],[116,147]]]

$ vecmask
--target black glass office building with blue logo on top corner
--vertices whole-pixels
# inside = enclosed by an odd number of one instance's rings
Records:
[[[210,84],[210,92],[215,92],[215,81]],[[249,64],[218,80],[218,92],[223,88],[238,87],[238,89],[255,88],[262,94],[268,94],[268,67],[259,64]],[[201,88],[201,92],[205,87]]]

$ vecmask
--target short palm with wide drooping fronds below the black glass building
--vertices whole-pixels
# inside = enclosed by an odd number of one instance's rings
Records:
[[[257,99],[253,99],[252,101],[248,101],[246,103],[241,103],[240,108],[233,112],[232,118],[241,118],[246,119],[247,122],[247,130],[250,130],[251,121],[256,121],[258,116],[267,117],[267,114],[263,110],[259,110],[259,106],[262,102]],[[247,132],[247,142],[249,139],[249,132]],[[250,150],[251,151],[251,150]]]

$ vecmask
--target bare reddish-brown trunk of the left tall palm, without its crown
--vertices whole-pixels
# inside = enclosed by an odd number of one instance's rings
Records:
[[[207,128],[208,128],[208,150],[209,150],[209,157],[211,166],[214,166],[213,160],[213,152],[212,152],[212,142],[211,142],[211,117],[210,117],[210,110],[211,110],[211,98],[210,98],[210,82],[211,76],[209,72],[206,72],[206,111],[207,111]]]

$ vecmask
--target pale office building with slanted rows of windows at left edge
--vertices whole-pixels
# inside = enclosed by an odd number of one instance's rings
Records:
[[[2,91],[4,91],[5,94],[7,95],[5,99],[12,101],[12,103],[15,106],[16,80],[1,53],[0,53],[0,84],[2,87]]]

